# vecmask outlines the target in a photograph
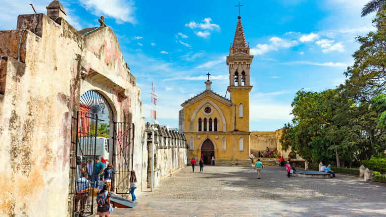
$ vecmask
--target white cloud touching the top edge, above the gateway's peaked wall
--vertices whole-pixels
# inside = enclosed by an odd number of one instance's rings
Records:
[[[133,0],[79,0],[81,5],[85,7],[90,13],[100,16],[104,14],[105,17],[112,17],[117,23],[129,22],[137,23],[135,17],[135,7]]]

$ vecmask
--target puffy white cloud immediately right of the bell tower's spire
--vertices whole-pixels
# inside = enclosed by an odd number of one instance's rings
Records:
[[[258,44],[255,48],[251,48],[250,53],[252,55],[261,55],[270,51],[279,51],[281,49],[294,47],[299,44],[297,41],[283,40],[276,36],[270,38],[269,41],[271,42],[271,44]]]

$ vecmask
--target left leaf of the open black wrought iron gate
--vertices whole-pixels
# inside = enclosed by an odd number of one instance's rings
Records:
[[[72,117],[69,216],[93,215],[94,176],[92,172],[97,151],[97,125],[96,113],[78,111],[77,117]]]

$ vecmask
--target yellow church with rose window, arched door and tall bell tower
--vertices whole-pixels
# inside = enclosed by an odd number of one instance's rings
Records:
[[[230,100],[211,90],[208,74],[205,91],[181,105],[179,130],[189,144],[189,159],[199,159],[203,155],[204,163],[210,164],[211,156],[214,156],[215,165],[251,165],[249,92],[252,86],[249,69],[252,59],[239,16],[226,60]]]

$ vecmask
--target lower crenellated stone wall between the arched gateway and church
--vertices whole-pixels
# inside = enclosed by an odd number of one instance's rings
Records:
[[[157,127],[154,132],[154,154],[156,155],[156,166],[154,183],[157,186],[159,180],[168,177],[173,172],[184,168],[188,164],[189,147],[185,135],[175,130]],[[151,131],[150,124],[146,124],[147,147],[148,147],[148,173],[147,186],[150,188],[151,175]]]

